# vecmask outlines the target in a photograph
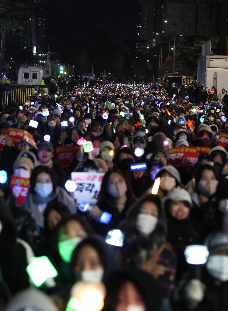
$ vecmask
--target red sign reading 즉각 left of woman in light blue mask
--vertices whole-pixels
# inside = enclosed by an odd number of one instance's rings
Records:
[[[28,188],[30,187],[30,178],[23,178],[18,176],[11,176],[10,188],[16,197],[17,205],[22,205],[27,197]]]

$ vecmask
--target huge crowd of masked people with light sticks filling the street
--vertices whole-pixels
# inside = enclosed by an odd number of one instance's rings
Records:
[[[0,310],[65,310],[80,281],[105,285],[103,311],[227,310],[226,90],[56,90],[2,106]],[[24,139],[14,139],[18,130]],[[59,147],[67,147],[65,165]],[[181,162],[191,150],[195,161]],[[66,187],[75,172],[103,176],[87,210],[86,193],[83,203]],[[29,180],[22,202],[12,177]],[[119,246],[106,243],[114,232]],[[205,262],[197,252],[198,264],[186,260],[191,245],[207,250]],[[58,275],[38,291],[26,267],[42,256]]]

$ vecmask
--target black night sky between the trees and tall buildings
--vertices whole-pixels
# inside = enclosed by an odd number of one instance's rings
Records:
[[[48,15],[55,23],[57,21],[57,33],[63,43],[85,38],[91,44],[96,44],[99,30],[103,30],[112,37],[113,43],[120,44],[125,39],[135,39],[136,2],[57,0],[55,3],[49,2]],[[53,10],[54,14],[51,13]]]

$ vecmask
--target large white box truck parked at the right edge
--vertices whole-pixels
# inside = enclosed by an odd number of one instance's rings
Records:
[[[219,94],[223,88],[228,89],[228,56],[207,55],[198,59],[197,83],[214,86]]]

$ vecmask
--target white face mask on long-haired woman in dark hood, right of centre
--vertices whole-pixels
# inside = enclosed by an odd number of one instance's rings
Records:
[[[138,214],[136,220],[136,228],[140,233],[149,235],[153,232],[157,225],[158,219],[148,214]]]

